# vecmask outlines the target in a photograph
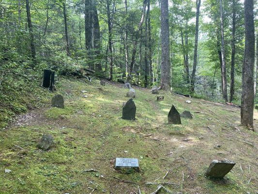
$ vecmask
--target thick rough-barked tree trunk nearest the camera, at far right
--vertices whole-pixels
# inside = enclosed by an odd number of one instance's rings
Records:
[[[254,0],[244,0],[245,44],[242,67],[241,124],[254,130]]]

